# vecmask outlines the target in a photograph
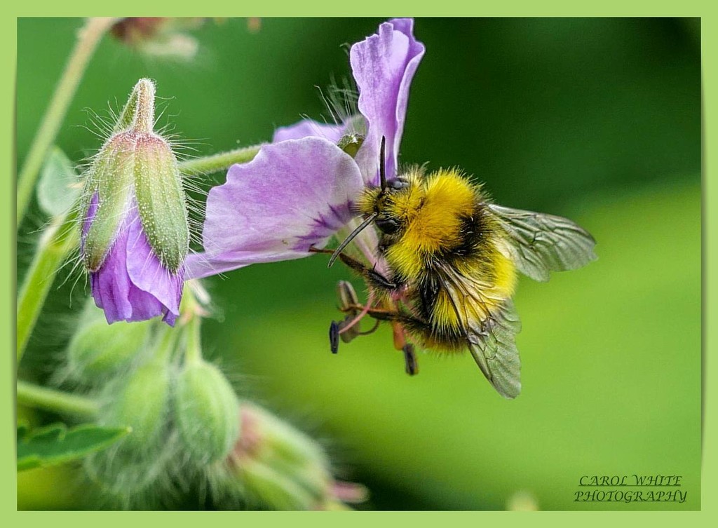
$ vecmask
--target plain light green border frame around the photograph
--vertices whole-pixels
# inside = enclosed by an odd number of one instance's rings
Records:
[[[42,5],[47,4],[47,5]],[[540,4],[526,0],[507,4],[500,2],[495,5],[469,6],[466,0],[444,1],[440,6],[422,7],[414,1],[398,0],[391,4],[391,13],[387,18],[397,15],[411,15],[414,17],[432,16],[686,16],[701,17],[701,50],[702,60],[702,88],[703,88],[703,438],[704,448],[702,457],[702,485],[701,485],[701,511],[636,511],[636,512],[500,512],[500,511],[465,511],[465,512],[361,512],[361,513],[295,513],[295,512],[17,512],[17,483],[15,471],[15,439],[13,434],[14,422],[14,312],[16,295],[15,277],[15,230],[14,210],[15,193],[14,181],[17,175],[14,133],[15,133],[15,101],[16,101],[16,66],[17,66],[17,17],[34,16],[83,16],[86,14],[142,14],[145,16],[167,15],[177,16],[206,16],[225,15],[238,16],[249,14],[252,16],[381,16],[386,9],[386,1],[338,2],[336,0],[309,2],[289,2],[286,0],[263,4],[256,9],[251,4],[239,4],[231,0],[205,0],[201,6],[195,8],[170,2],[169,0],[153,1],[150,8],[146,1],[125,0],[122,4],[108,6],[98,4],[96,1],[69,0],[49,5],[47,1],[35,1],[32,5],[17,4],[3,8],[4,16],[0,18],[0,42],[2,64],[6,75],[1,85],[5,125],[0,129],[5,160],[8,170],[2,179],[4,187],[2,197],[2,229],[0,230],[0,252],[4,258],[0,259],[0,277],[2,295],[5,297],[0,307],[0,335],[4,336],[6,354],[4,361],[0,362],[2,392],[6,394],[4,403],[0,405],[1,423],[5,425],[5,433],[0,436],[1,475],[0,485],[0,512],[6,519],[6,526],[36,526],[40,524],[85,526],[101,523],[103,527],[123,526],[132,516],[131,522],[151,524],[156,522],[171,523],[173,527],[195,526],[197,522],[206,522],[206,517],[212,516],[214,527],[236,527],[238,522],[251,523],[251,525],[266,524],[304,524],[311,522],[314,525],[342,523],[342,527],[363,526],[366,522],[396,522],[416,524],[435,524],[437,522],[452,522],[452,524],[475,526],[491,524],[492,526],[506,526],[514,524],[551,524],[552,526],[599,526],[605,524],[681,524],[684,526],[699,526],[708,524],[709,519],[718,518],[718,471],[716,445],[718,445],[718,432],[716,430],[716,396],[711,386],[718,383],[715,354],[718,343],[718,321],[715,313],[718,302],[718,287],[714,280],[715,270],[718,269],[718,182],[712,174],[712,162],[718,158],[718,134],[712,135],[711,124],[718,123],[718,103],[714,97],[718,86],[718,65],[715,60],[715,51],[718,50],[718,16],[713,16],[713,10],[708,1],[685,0],[680,4],[668,1],[640,1],[628,3],[625,0],[605,0],[600,6],[588,6],[566,0],[545,0]],[[284,5],[283,5],[284,4]],[[239,13],[238,11],[243,11]],[[108,11],[108,12],[100,12]],[[713,50],[709,52],[708,50]],[[715,103],[715,104],[714,104]],[[4,250],[4,251],[3,251]],[[713,272],[709,272],[709,270]],[[713,321],[714,324],[711,324]],[[338,519],[336,516],[342,516]],[[161,517],[160,517],[161,516]],[[238,519],[238,516],[242,516]],[[202,519],[200,519],[202,517]],[[370,518],[369,518],[370,517]]]

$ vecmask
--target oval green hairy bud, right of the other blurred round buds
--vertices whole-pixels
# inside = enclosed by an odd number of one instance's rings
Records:
[[[229,455],[239,435],[239,402],[220,369],[201,359],[187,363],[177,377],[174,409],[180,440],[195,463]]]

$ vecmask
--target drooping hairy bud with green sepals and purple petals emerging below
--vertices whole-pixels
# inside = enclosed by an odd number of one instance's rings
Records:
[[[154,83],[138,81],[85,175],[80,253],[108,323],[180,313],[190,229],[182,177],[155,134]]]

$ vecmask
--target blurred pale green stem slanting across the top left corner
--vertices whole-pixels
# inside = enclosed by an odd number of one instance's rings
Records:
[[[17,226],[25,216],[34,189],[35,180],[42,162],[45,160],[47,149],[55,142],[57,131],[60,130],[62,119],[65,118],[67,107],[70,106],[80,80],[83,78],[85,68],[90,62],[98,43],[108,29],[116,22],[113,18],[90,18],[78,34],[78,42],[67,61],[65,71],[62,72],[60,82],[57,83],[50,106],[45,111],[45,117],[37,129],[30,146],[25,163],[17,181]]]

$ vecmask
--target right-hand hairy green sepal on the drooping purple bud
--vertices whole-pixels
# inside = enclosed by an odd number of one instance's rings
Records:
[[[169,144],[155,134],[137,140],[134,185],[142,228],[152,251],[177,272],[190,247],[185,190]]]

